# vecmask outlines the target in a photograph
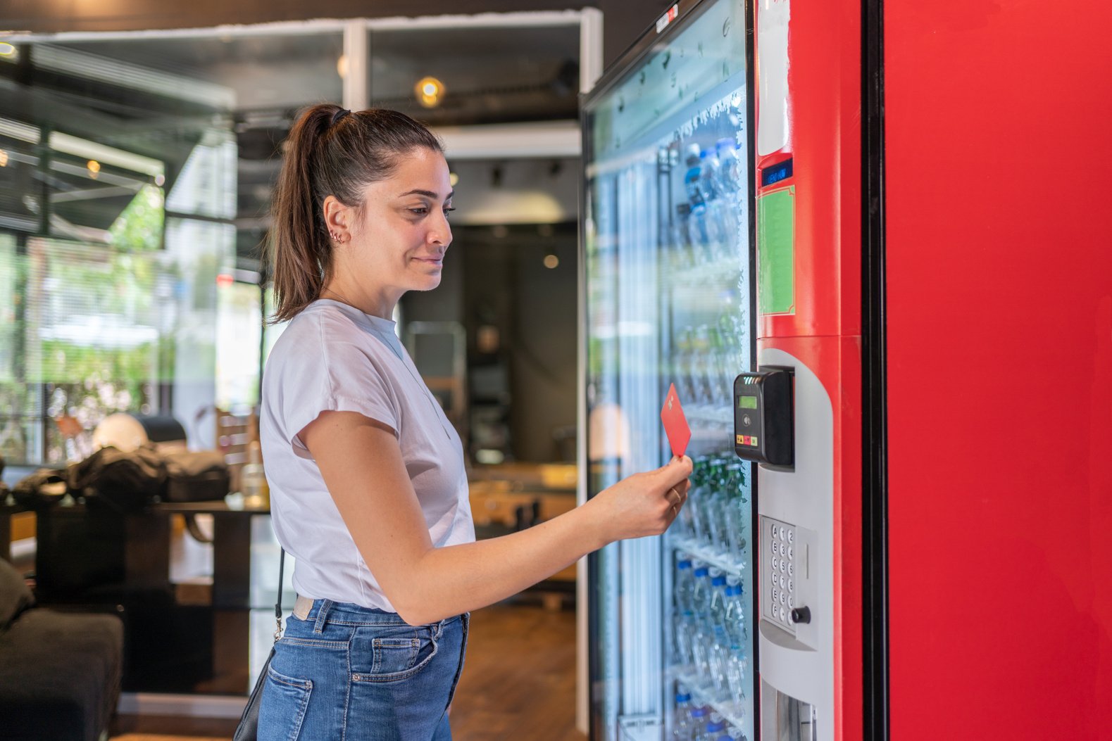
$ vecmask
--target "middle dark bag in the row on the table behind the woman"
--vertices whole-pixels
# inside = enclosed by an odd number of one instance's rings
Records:
[[[167,471],[162,457],[141,447],[131,452],[101,448],[69,468],[69,488],[87,502],[106,504],[121,514],[141,512],[162,498]]]

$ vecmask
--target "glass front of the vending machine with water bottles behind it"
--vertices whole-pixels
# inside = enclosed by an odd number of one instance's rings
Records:
[[[589,560],[600,741],[755,738],[755,469],[733,445],[756,347],[751,18],[673,6],[584,104],[587,494],[668,461],[673,384],[694,461],[666,535]]]

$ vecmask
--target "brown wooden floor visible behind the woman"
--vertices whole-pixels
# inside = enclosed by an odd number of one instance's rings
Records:
[[[121,715],[113,741],[226,741],[235,721]],[[499,604],[471,615],[451,708],[455,741],[583,741],[575,730],[575,612]]]

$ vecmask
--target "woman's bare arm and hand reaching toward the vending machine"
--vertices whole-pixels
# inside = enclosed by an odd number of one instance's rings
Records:
[[[357,412],[325,412],[300,437],[367,567],[410,624],[504,600],[615,540],[664,532],[692,471],[689,458],[673,459],[528,530],[434,548],[391,429]]]

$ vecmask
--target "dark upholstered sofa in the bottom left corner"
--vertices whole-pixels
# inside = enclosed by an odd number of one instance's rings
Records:
[[[107,739],[122,662],[119,618],[36,607],[23,578],[0,558],[0,737]]]

